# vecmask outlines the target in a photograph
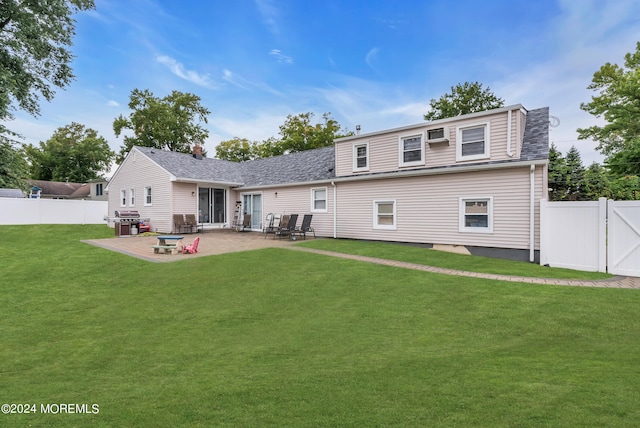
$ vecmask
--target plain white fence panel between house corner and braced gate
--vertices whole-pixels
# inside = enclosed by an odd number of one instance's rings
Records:
[[[540,201],[540,264],[606,272],[607,200]]]

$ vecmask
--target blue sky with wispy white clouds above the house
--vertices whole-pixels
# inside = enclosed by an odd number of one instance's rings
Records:
[[[114,151],[133,89],[190,92],[211,111],[205,149],[278,136],[289,114],[330,112],[373,132],[423,122],[429,101],[479,81],[507,105],[548,106],[561,151],[602,161],[576,129],[593,73],[640,41],[637,0],[96,0],[77,15],[76,80],[7,125],[26,143],[78,122]]]

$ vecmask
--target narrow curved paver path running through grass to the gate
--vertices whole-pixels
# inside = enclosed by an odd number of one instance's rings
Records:
[[[636,277],[620,277],[616,276],[611,279],[589,281],[589,280],[570,280],[570,279],[553,279],[553,278],[532,278],[526,276],[497,275],[490,273],[467,272],[455,269],[445,269],[434,266],[419,265],[416,263],[400,262],[396,260],[378,259],[375,257],[358,256],[354,254],[337,253],[333,251],[317,250],[313,248],[291,246],[287,247],[291,250],[305,251],[308,253],[322,254],[331,257],[342,257],[345,259],[358,260],[361,262],[376,263],[385,266],[395,266],[407,269],[416,269],[425,272],[442,273],[446,275],[466,276],[472,278],[486,278],[496,281],[525,282],[529,284],[548,284],[548,285],[567,285],[574,287],[600,287],[600,288],[636,288],[640,289],[640,278]]]

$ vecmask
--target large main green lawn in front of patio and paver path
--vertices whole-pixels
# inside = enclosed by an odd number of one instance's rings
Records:
[[[112,237],[106,226],[0,231],[0,403],[99,406],[0,414],[0,426],[640,420],[638,290],[279,248],[151,263],[80,242]]]

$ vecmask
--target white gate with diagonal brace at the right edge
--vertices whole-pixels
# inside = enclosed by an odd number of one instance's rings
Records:
[[[640,201],[609,201],[609,272],[640,276]]]

